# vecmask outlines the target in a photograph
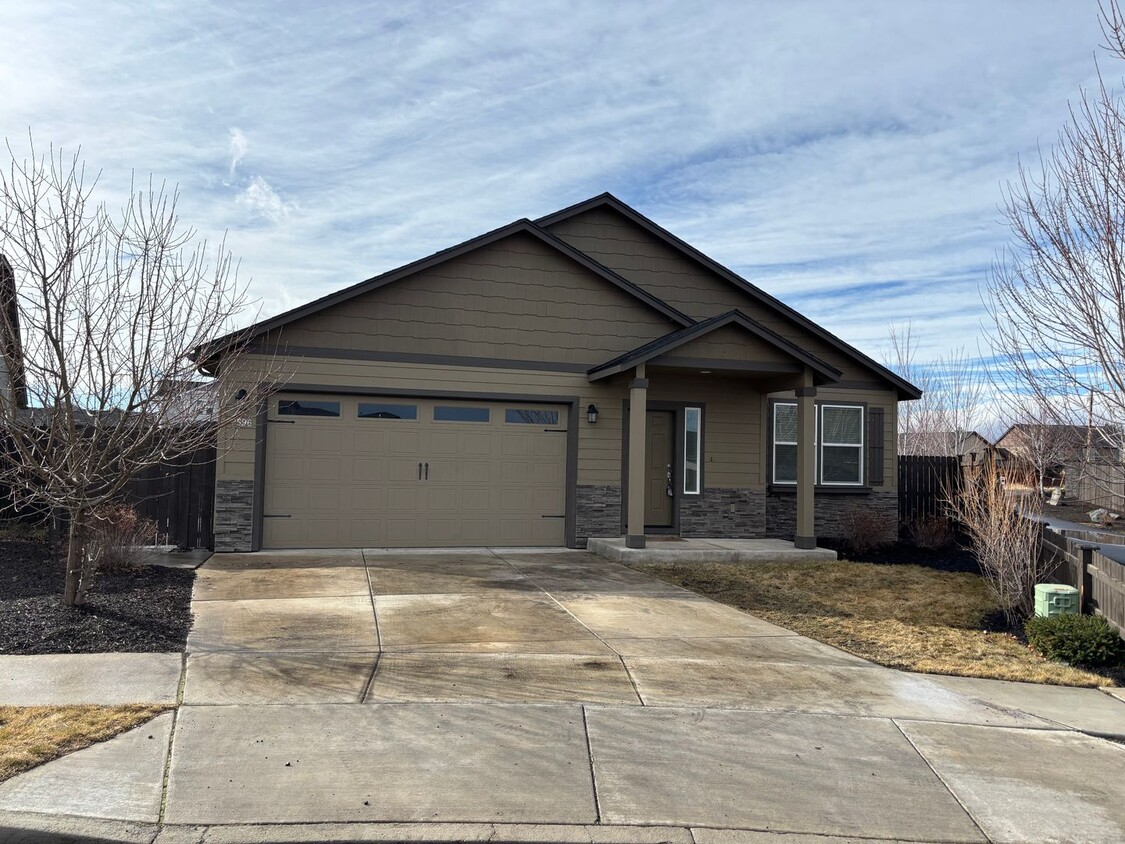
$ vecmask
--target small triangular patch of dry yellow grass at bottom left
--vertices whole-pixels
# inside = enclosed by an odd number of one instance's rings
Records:
[[[168,707],[0,707],[0,782],[144,724]]]

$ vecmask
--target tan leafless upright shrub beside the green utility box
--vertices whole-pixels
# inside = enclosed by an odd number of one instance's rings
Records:
[[[1042,501],[1006,488],[994,461],[948,497],[950,511],[972,541],[976,562],[1009,625],[1030,614],[1035,584],[1044,574],[1040,555]]]

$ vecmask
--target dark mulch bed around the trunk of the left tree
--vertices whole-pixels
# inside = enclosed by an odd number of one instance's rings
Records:
[[[0,654],[182,652],[191,628],[190,569],[102,573],[82,607],[63,605],[62,554],[0,541]]]

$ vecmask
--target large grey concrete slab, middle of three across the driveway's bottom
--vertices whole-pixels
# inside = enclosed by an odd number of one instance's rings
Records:
[[[984,839],[890,720],[644,707],[586,717],[603,823]]]

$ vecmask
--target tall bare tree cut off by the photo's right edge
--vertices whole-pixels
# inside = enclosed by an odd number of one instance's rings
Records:
[[[1119,5],[1100,10],[1105,46],[1125,60]],[[1005,215],[1012,242],[991,273],[988,306],[1015,392],[1053,424],[1117,437],[1125,420],[1125,100],[1100,70],[1053,149],[1008,185]]]

